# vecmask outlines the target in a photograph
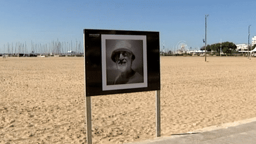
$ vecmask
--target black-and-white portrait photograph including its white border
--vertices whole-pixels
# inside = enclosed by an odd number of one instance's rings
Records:
[[[148,85],[146,36],[102,34],[103,91]]]

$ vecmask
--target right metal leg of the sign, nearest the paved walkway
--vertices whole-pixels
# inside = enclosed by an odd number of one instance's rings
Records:
[[[156,91],[156,137],[161,136],[160,90]]]

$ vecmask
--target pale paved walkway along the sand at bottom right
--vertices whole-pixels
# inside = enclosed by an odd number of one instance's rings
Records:
[[[226,125],[227,126],[227,125]],[[256,143],[256,121],[190,135],[159,137],[132,144],[249,144]]]

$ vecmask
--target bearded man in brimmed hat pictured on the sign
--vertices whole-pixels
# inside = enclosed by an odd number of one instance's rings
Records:
[[[115,85],[143,82],[143,76],[132,69],[132,63],[135,58],[132,46],[128,41],[119,40],[116,43],[111,59],[116,63],[116,68],[120,71],[120,75],[114,81]]]

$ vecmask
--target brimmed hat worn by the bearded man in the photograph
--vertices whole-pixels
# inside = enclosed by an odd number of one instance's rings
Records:
[[[116,62],[114,58],[116,53],[121,51],[132,53],[132,60],[135,59],[135,55],[132,52],[132,45],[127,40],[118,40],[111,55],[113,62]]]

